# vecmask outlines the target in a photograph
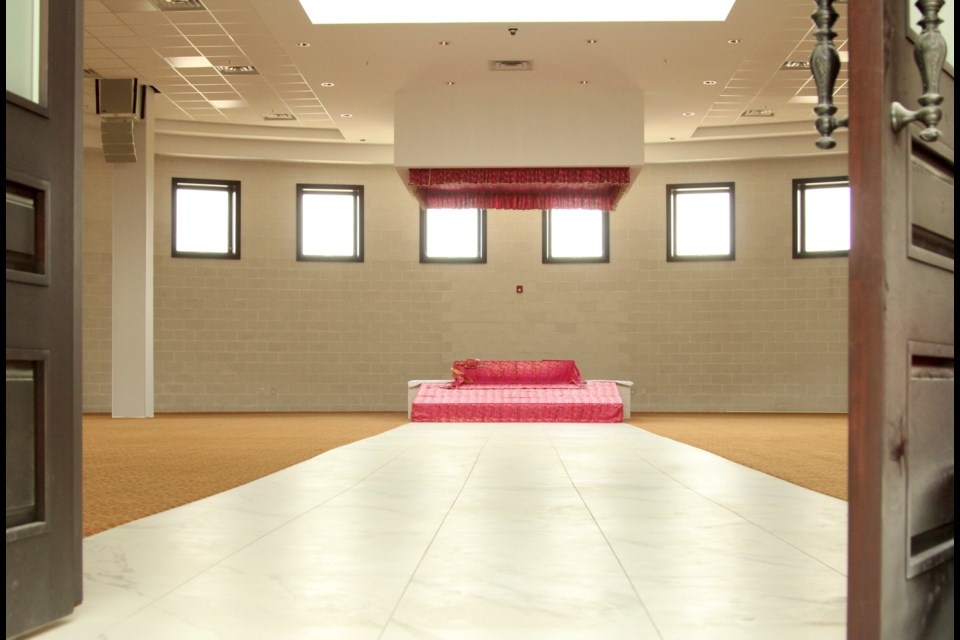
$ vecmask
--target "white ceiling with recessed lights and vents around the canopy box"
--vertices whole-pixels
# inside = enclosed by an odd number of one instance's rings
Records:
[[[393,144],[398,91],[523,83],[554,94],[641,89],[648,147],[802,136],[815,152],[810,72],[783,69],[807,61],[816,42],[811,0],[737,0],[724,22],[473,25],[313,25],[298,0],[201,2],[205,10],[161,12],[150,0],[84,1],[88,125],[96,127],[92,78],[135,77],[159,91],[159,132],[383,150]],[[844,15],[834,29],[843,51]],[[177,68],[172,57],[213,66]],[[497,60],[532,68],[492,71]],[[244,65],[256,73],[214,68]],[[844,115],[845,71],[834,100]],[[774,115],[746,117],[748,110]],[[295,120],[264,119],[277,114]]]

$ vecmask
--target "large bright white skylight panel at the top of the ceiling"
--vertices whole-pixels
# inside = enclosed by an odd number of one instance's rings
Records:
[[[722,22],[734,0],[686,2],[450,2],[300,0],[313,24],[474,24],[526,22]]]

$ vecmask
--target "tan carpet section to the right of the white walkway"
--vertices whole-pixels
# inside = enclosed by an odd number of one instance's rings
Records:
[[[634,413],[629,423],[847,499],[845,413]]]

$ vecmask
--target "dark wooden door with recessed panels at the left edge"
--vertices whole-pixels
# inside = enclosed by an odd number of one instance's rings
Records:
[[[80,7],[7,3],[7,637],[81,597]]]

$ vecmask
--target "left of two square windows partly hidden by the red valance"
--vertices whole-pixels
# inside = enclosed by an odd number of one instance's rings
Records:
[[[486,262],[486,209],[421,209],[420,262]]]

